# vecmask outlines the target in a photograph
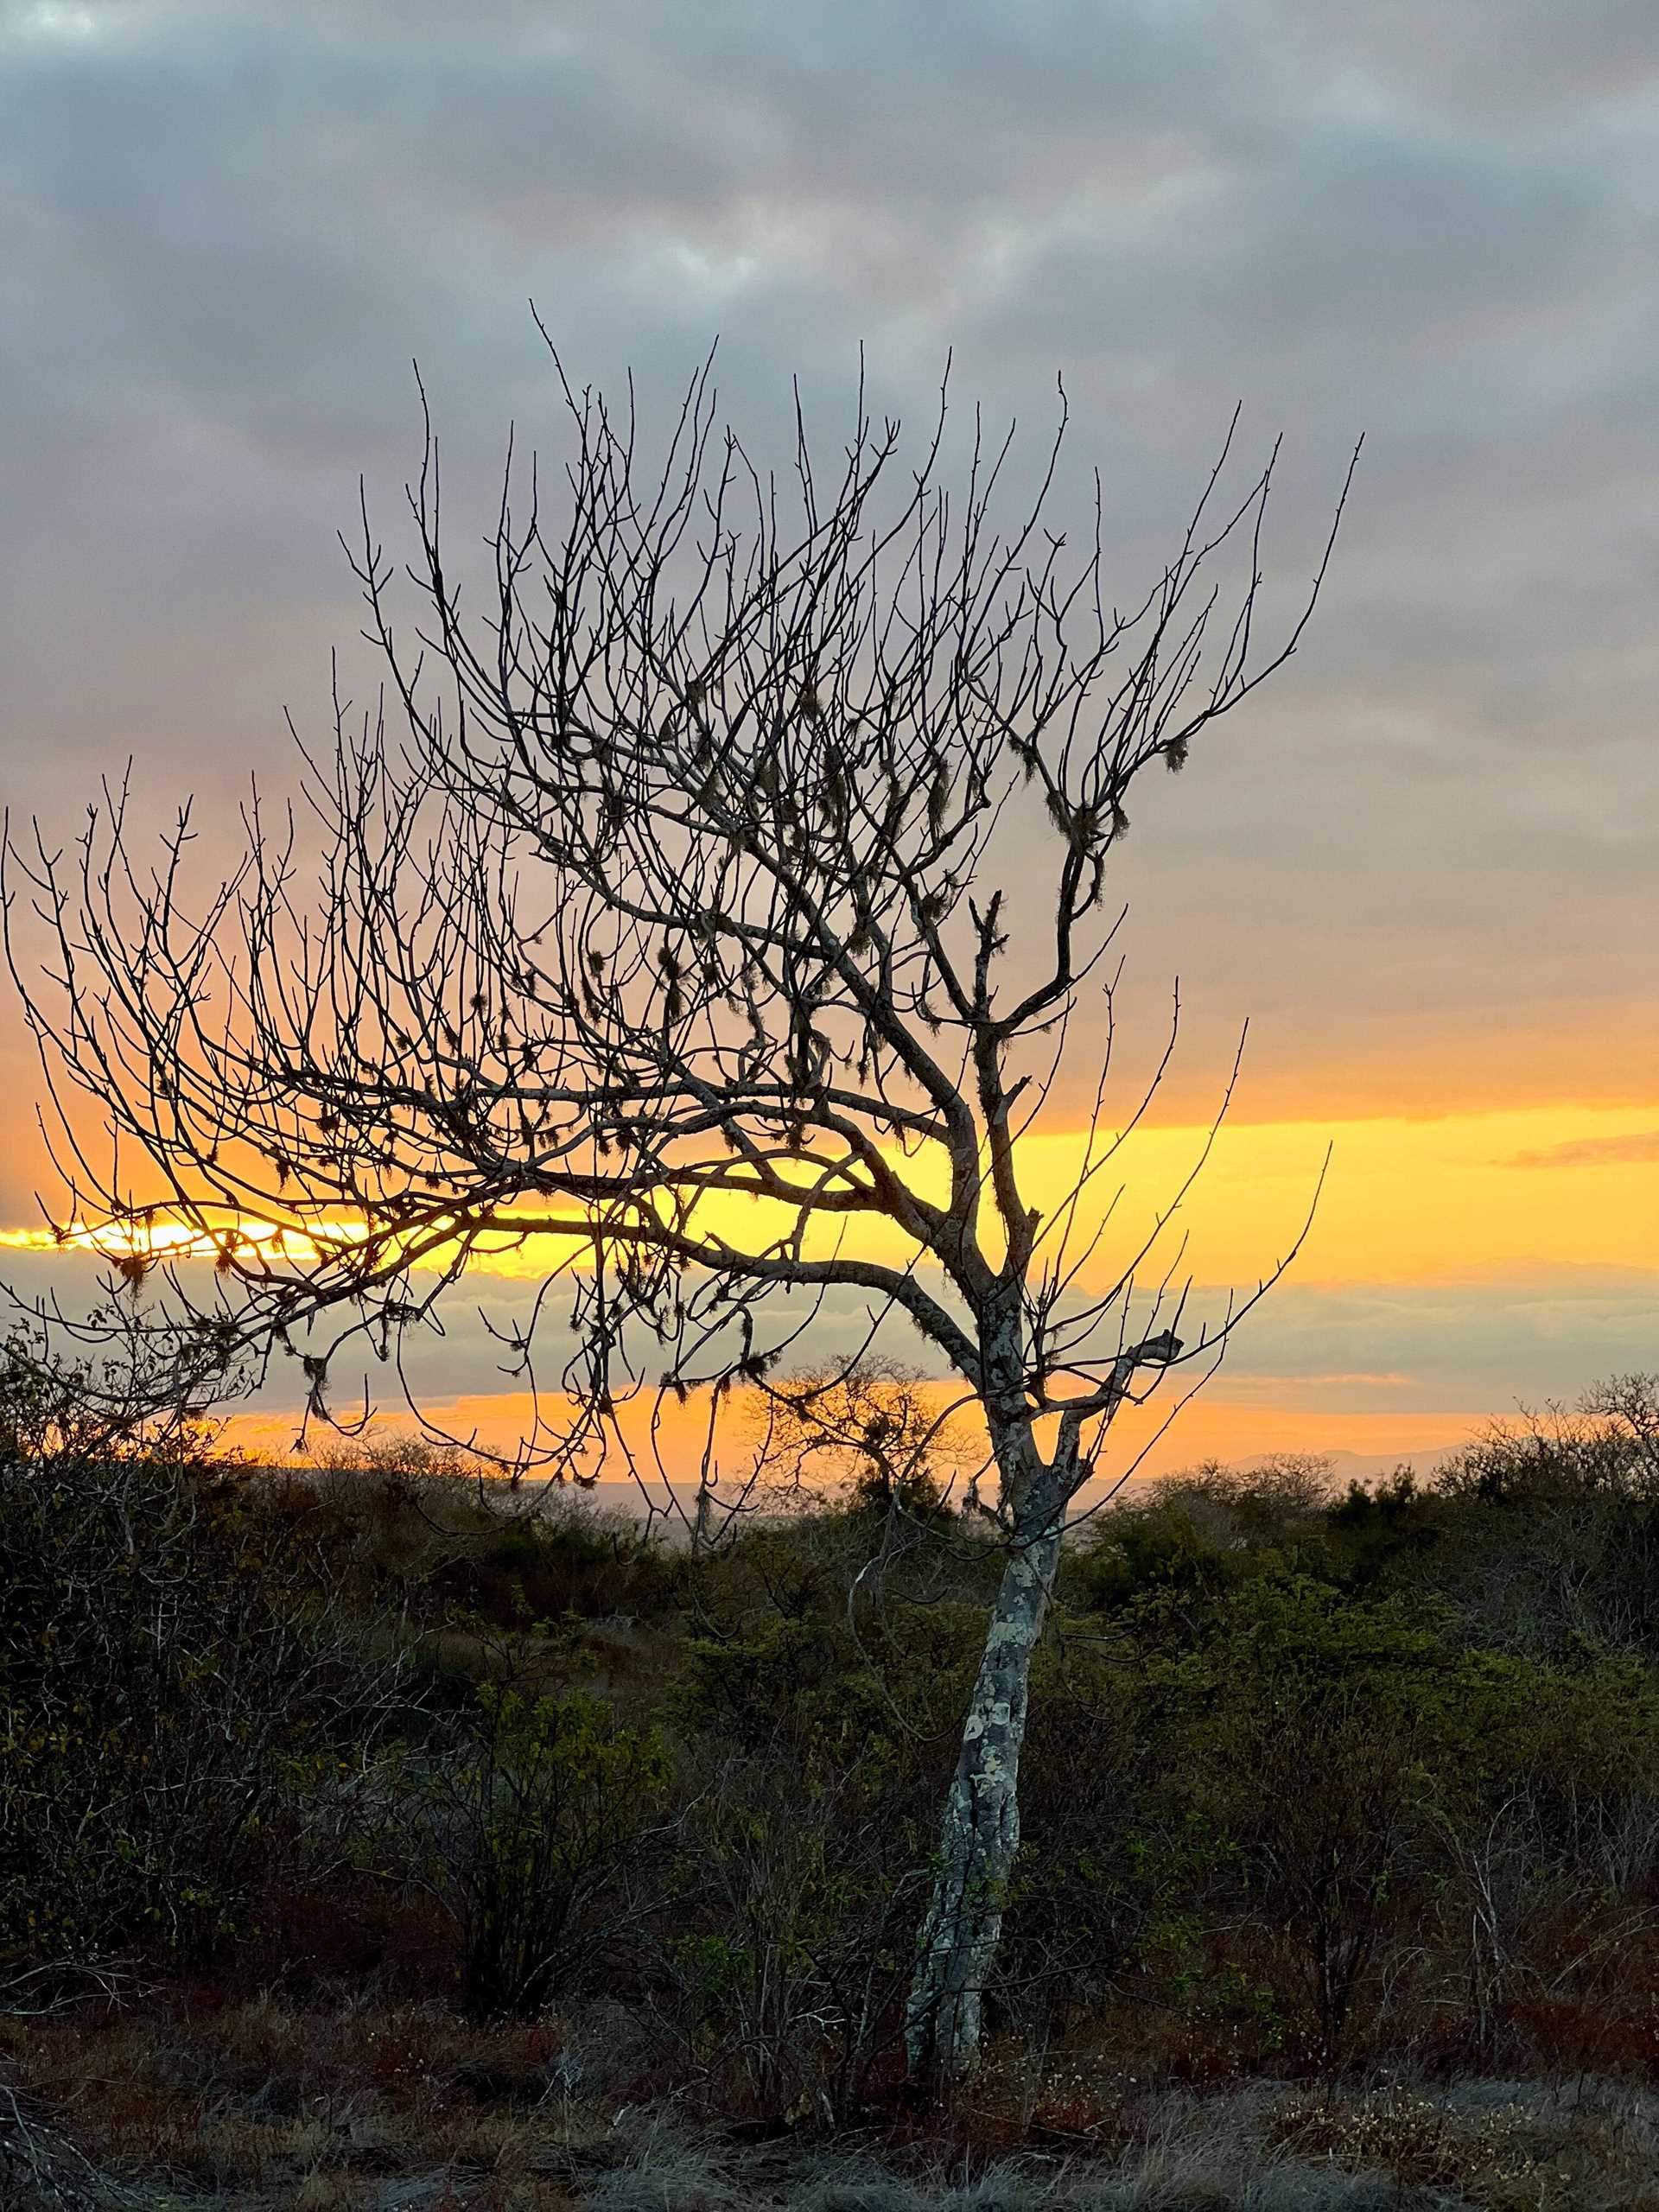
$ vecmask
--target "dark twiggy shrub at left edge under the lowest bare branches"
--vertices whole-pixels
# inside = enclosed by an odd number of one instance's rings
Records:
[[[0,1942],[201,1955],[396,1655],[199,1433],[111,1429],[15,1345],[0,1409]]]

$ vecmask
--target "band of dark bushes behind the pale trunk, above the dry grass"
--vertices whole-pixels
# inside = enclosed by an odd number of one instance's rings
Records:
[[[854,1498],[641,1555],[434,1469],[276,1482],[186,1429],[86,1429],[27,1358],[4,1407],[22,1971],[215,1955],[542,2024],[606,1993],[650,2079],[732,2117],[883,2099],[1002,1564],[975,1522]],[[1635,1542],[1619,1606],[1526,1582],[1544,1526],[1566,1559],[1639,1533],[1641,1440],[1542,1433],[1347,1495],[1206,1467],[1068,1546],[1002,2048],[1199,2084],[1650,2068],[1659,1593]],[[526,1553],[580,1553],[560,1619],[513,1599]]]

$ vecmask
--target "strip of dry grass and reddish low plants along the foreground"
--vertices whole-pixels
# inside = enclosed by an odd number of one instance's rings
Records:
[[[613,2015],[467,2026],[436,2000],[173,1991],[35,2022],[38,2132],[0,2203],[197,2212],[1659,2212],[1659,2097],[1610,2081],[1199,2095],[1066,2068],[1068,2126],[993,2088],[838,2141],[699,2126]],[[1091,2095],[1082,2095],[1088,2086]],[[1048,2099],[1048,2110],[1055,2110]],[[0,2137],[4,2130],[0,2128]],[[71,2148],[73,2146],[73,2148]],[[55,2190],[55,2194],[53,2194]]]

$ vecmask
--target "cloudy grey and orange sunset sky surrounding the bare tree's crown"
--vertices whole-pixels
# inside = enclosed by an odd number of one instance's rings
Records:
[[[0,0],[13,823],[62,838],[131,757],[142,821],[199,794],[210,869],[248,776],[292,787],[283,708],[316,732],[330,648],[367,668],[336,531],[363,476],[396,544],[411,361],[482,529],[509,420],[553,436],[531,299],[646,409],[719,338],[779,458],[790,378],[834,427],[860,345],[876,405],[925,418],[949,349],[1037,438],[1064,374],[1126,595],[1234,405],[1243,449],[1285,434],[1285,588],[1365,434],[1303,650],[1119,869],[1148,1051],[1177,973],[1188,1006],[1152,1181],[1250,1020],[1214,1281],[1334,1146],[1159,1464],[1422,1453],[1659,1367],[1646,0]],[[38,1091],[2,1006],[4,1272],[77,1287],[22,1241]],[[504,1433],[471,1307],[427,1385]]]

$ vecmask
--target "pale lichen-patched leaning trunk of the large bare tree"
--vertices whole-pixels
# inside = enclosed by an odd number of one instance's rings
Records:
[[[1048,1613],[1060,1524],[1060,1511],[1035,1517],[1037,1533],[1015,1548],[1002,1571],[945,1801],[940,1871],[905,2013],[909,2075],[927,2093],[971,2073],[980,2055],[980,1997],[1020,1849],[1020,1747],[1031,1655]]]

